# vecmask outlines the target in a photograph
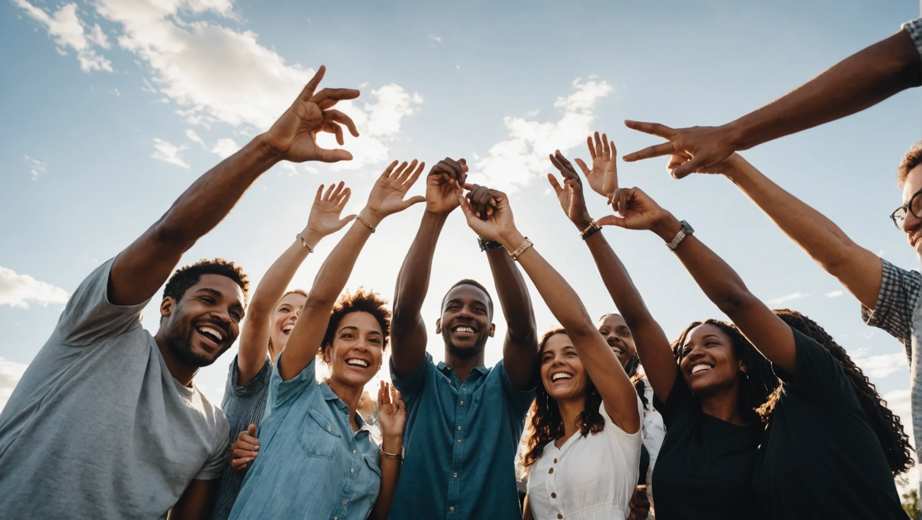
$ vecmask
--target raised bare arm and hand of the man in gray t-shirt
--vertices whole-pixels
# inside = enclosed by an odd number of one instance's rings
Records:
[[[349,116],[330,109],[340,99],[358,98],[359,91],[325,88],[314,94],[324,72],[321,66],[268,132],[256,136],[195,180],[160,220],[119,253],[109,275],[109,299],[113,304],[136,305],[154,295],[183,253],[218,225],[243,192],[278,161],[336,162],[352,158],[346,150],[320,148],[314,139],[318,132],[336,133],[342,144],[338,123],[347,125],[352,135],[359,135]]]

